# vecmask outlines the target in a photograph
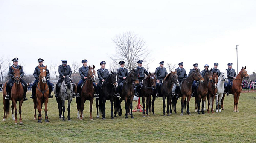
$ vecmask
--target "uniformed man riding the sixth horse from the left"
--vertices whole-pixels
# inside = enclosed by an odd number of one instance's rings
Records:
[[[120,97],[120,94],[119,94],[119,91],[120,91],[120,88],[121,88],[121,86],[119,86],[120,85],[120,83],[121,82],[123,82],[125,79],[126,79],[126,77],[127,77],[127,75],[128,75],[128,69],[126,69],[125,68],[125,62],[124,61],[120,61],[119,62],[119,64],[120,64],[120,68],[119,69],[117,69],[117,74],[118,74],[118,87],[117,87],[117,94],[116,94],[116,96],[117,97]]]

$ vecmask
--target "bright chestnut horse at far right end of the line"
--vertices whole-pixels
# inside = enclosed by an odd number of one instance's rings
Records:
[[[234,112],[239,112],[237,109],[237,105],[238,105],[238,100],[242,91],[241,85],[243,82],[243,78],[246,78],[247,80],[249,80],[250,78],[249,74],[247,74],[246,66],[242,67],[241,71],[237,74],[236,79],[233,80],[233,84],[229,90],[229,94],[234,95]],[[223,110],[224,110],[224,107],[223,107],[224,97],[225,97],[225,94],[223,95],[222,101],[221,101],[221,107]]]

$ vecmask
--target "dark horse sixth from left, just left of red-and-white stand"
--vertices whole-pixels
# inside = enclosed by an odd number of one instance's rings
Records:
[[[116,99],[116,112],[118,112],[119,116],[122,116],[122,108],[121,108],[121,102],[122,100],[125,100],[125,119],[127,119],[127,115],[130,113],[130,110],[132,111],[132,101],[134,97],[134,86],[135,84],[139,84],[139,69],[133,69],[131,70],[126,79],[124,80],[122,89],[120,90],[120,99]],[[129,110],[130,106],[130,110]],[[133,119],[134,116],[132,112],[130,113],[131,118]]]

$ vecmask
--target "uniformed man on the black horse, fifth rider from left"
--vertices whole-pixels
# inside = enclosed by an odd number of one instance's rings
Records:
[[[109,72],[108,72],[108,69],[105,69],[106,62],[102,61],[99,64],[100,64],[101,68],[97,70],[99,82],[97,84],[96,98],[99,98],[99,90],[102,86],[102,82],[105,81],[107,79],[107,77],[110,75]]]

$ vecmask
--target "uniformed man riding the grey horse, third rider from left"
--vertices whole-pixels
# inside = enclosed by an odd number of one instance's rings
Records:
[[[55,97],[58,98],[58,92],[59,92],[59,88],[58,88],[58,85],[59,83],[62,83],[64,78],[66,76],[69,76],[71,77],[71,74],[72,74],[72,71],[71,71],[71,67],[70,65],[67,65],[67,60],[61,60],[62,61],[62,65],[59,65],[59,68],[58,68],[58,72],[59,72],[59,80],[56,84],[56,94],[55,94]],[[74,90],[74,88],[73,88]],[[73,94],[73,97],[76,97],[76,94]]]

